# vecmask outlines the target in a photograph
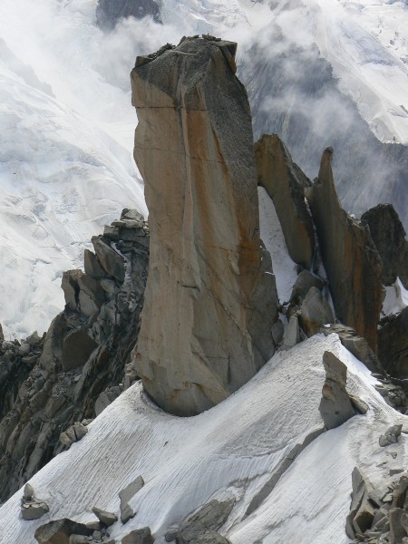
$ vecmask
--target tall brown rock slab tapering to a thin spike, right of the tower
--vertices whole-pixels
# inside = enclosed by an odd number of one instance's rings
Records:
[[[383,304],[381,259],[365,223],[342,209],[332,171],[333,149],[323,153],[317,180],[307,189],[316,224],[335,316],[355,328],[377,351],[377,324]]]

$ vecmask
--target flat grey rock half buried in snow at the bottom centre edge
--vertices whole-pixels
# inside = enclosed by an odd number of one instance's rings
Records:
[[[209,531],[217,532],[228,520],[234,504],[235,499],[210,500],[180,525],[177,535],[178,544],[190,544]]]

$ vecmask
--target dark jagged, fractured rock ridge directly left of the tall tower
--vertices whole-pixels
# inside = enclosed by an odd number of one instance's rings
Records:
[[[123,231],[127,239],[120,238]],[[116,238],[112,244],[111,238],[95,238],[96,255],[87,252],[88,263],[92,261],[87,273],[70,271],[64,276],[66,306],[54,318],[44,343],[36,335],[24,341],[23,349],[17,342],[3,343],[0,501],[78,440],[81,425],[73,432],[68,428],[94,417],[95,403],[106,388],[123,390],[139,332],[149,237],[141,215],[129,209],[112,235]],[[132,378],[126,377],[128,385]],[[108,401],[106,395],[103,405]]]

